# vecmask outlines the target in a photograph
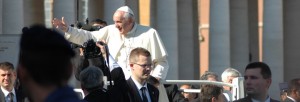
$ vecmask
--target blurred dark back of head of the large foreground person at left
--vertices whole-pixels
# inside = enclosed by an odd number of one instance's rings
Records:
[[[57,31],[41,25],[23,29],[19,64],[41,85],[58,85],[72,75],[70,43]]]

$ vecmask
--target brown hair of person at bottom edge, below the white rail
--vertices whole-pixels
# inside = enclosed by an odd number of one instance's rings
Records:
[[[200,102],[211,102],[212,98],[218,99],[223,94],[223,88],[216,85],[206,84],[201,87]]]

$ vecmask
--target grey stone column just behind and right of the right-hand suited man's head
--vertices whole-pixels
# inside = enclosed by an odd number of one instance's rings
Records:
[[[279,100],[278,83],[283,82],[283,0],[264,0],[263,17],[263,62],[267,63],[272,75],[269,94]]]

